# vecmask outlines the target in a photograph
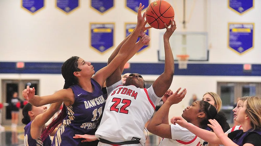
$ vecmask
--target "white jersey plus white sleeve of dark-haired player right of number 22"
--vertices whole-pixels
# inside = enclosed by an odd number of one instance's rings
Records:
[[[181,127],[179,124],[170,125],[171,138],[162,138],[159,146],[203,146],[204,140],[190,132],[188,129]]]

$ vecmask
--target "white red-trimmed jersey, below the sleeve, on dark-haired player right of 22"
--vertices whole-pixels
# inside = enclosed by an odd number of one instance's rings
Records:
[[[181,146],[181,145],[186,145],[186,146],[203,146],[204,140],[199,138],[198,136],[195,136],[193,140],[189,142],[184,142],[181,140],[173,140],[173,139],[168,139],[168,138],[162,138],[161,142],[159,143],[159,146]]]

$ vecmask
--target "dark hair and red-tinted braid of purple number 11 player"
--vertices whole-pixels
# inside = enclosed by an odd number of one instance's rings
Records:
[[[78,84],[78,79],[73,74],[76,71],[81,71],[81,69],[78,68],[78,59],[78,56],[73,56],[63,63],[61,69],[63,78],[65,80],[63,89],[68,89],[70,86]],[[62,123],[66,116],[66,106],[63,103],[61,113],[54,120],[52,120],[52,122],[44,129],[43,133],[41,134],[42,141],[44,141],[45,138],[48,137],[60,123]]]

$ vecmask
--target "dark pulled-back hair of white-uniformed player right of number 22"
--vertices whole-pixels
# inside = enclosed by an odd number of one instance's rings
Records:
[[[216,119],[224,132],[226,132],[230,128],[227,123],[227,118],[223,112],[217,113],[217,109],[206,101],[201,100],[199,103],[200,103],[199,112],[204,112],[206,114],[205,118],[200,122],[201,128],[205,129],[208,127],[207,124],[210,124],[209,119]]]

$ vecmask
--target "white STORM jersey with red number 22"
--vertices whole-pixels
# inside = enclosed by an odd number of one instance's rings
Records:
[[[144,145],[143,129],[154,110],[146,88],[120,85],[108,94],[95,136],[112,142],[130,141],[137,137]]]

